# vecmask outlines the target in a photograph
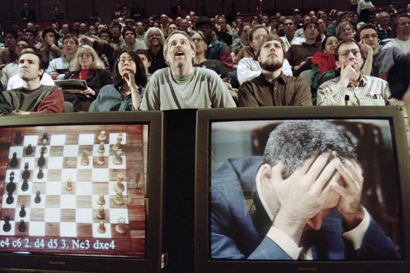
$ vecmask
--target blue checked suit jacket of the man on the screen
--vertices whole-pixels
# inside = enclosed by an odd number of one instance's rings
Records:
[[[244,191],[256,189],[255,177],[261,157],[229,159],[211,178],[211,255],[225,259],[291,259],[273,240],[266,237],[272,225],[266,213],[245,210]],[[256,206],[258,208],[258,206]],[[362,245],[355,250],[342,238],[342,217],[334,209],[320,230],[312,230],[313,259],[378,260],[397,259],[393,242],[371,219]],[[265,225],[265,226],[260,226]]]

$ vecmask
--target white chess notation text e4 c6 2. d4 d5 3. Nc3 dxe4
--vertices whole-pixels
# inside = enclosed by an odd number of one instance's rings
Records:
[[[90,242],[90,240],[78,240],[78,239],[71,239],[65,240],[61,239],[60,241],[57,239],[36,239],[36,240],[29,240],[27,238],[17,238],[15,240],[9,240],[9,238],[0,240],[0,248],[3,247],[13,247],[13,248],[49,248],[49,249],[115,249],[115,242],[111,240],[111,242],[104,242],[100,240],[96,240],[94,243]]]

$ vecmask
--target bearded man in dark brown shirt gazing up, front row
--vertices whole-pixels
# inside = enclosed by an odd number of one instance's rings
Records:
[[[308,82],[282,73],[285,50],[277,35],[266,35],[256,56],[262,73],[239,87],[239,107],[312,105]]]

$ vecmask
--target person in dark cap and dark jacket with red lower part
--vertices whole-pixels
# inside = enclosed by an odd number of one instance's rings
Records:
[[[228,71],[233,71],[233,60],[227,45],[212,37],[211,21],[206,16],[199,16],[196,20],[197,30],[202,31],[209,45],[206,58],[209,60],[220,60]]]

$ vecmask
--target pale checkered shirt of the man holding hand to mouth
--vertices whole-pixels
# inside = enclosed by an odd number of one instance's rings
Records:
[[[324,82],[317,90],[317,105],[327,106],[400,106],[403,103],[392,98],[387,81],[360,75],[357,86],[349,83],[347,88],[338,85],[340,77]]]

